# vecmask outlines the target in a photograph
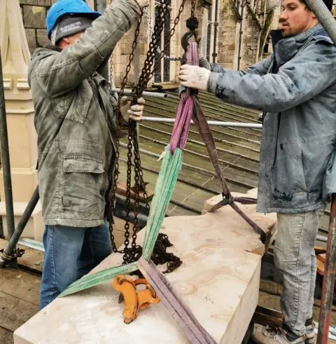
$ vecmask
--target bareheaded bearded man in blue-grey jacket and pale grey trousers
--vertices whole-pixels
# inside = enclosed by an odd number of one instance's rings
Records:
[[[325,0],[330,10],[332,1]],[[314,343],[318,214],[336,192],[336,48],[304,0],[284,0],[274,53],[245,71],[183,65],[186,87],[264,111],[258,212],[276,212],[282,329],[255,326],[257,343]]]

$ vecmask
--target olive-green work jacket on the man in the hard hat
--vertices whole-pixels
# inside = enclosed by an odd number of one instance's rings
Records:
[[[140,15],[134,0],[113,1],[72,46],[37,49],[29,66],[38,133],[38,185],[46,225],[104,223],[113,174],[116,118],[97,73]]]

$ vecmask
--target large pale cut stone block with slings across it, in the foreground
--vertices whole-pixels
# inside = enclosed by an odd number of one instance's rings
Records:
[[[246,212],[267,233],[274,227],[273,215],[257,215],[253,205]],[[183,261],[168,280],[218,343],[241,343],[258,303],[261,256],[251,253],[257,246],[261,252],[258,235],[230,207],[166,218],[162,232]],[[120,254],[111,254],[92,273],[121,263]],[[130,325],[122,312],[118,293],[106,282],[57,298],[15,331],[14,343],[188,343],[162,303],[141,311]]]

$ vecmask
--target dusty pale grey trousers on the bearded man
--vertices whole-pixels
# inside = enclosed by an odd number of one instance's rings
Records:
[[[274,265],[283,275],[281,312],[284,323],[302,336],[313,316],[316,257],[314,245],[321,210],[300,214],[278,213]]]

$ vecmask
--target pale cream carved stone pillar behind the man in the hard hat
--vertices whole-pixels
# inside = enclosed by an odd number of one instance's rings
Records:
[[[29,47],[18,0],[0,0],[0,51],[3,63],[10,167],[12,172],[15,223],[18,222],[37,184],[34,106],[27,82]],[[7,234],[3,174],[0,170],[0,215]],[[38,203],[24,236],[41,240],[43,221]]]

